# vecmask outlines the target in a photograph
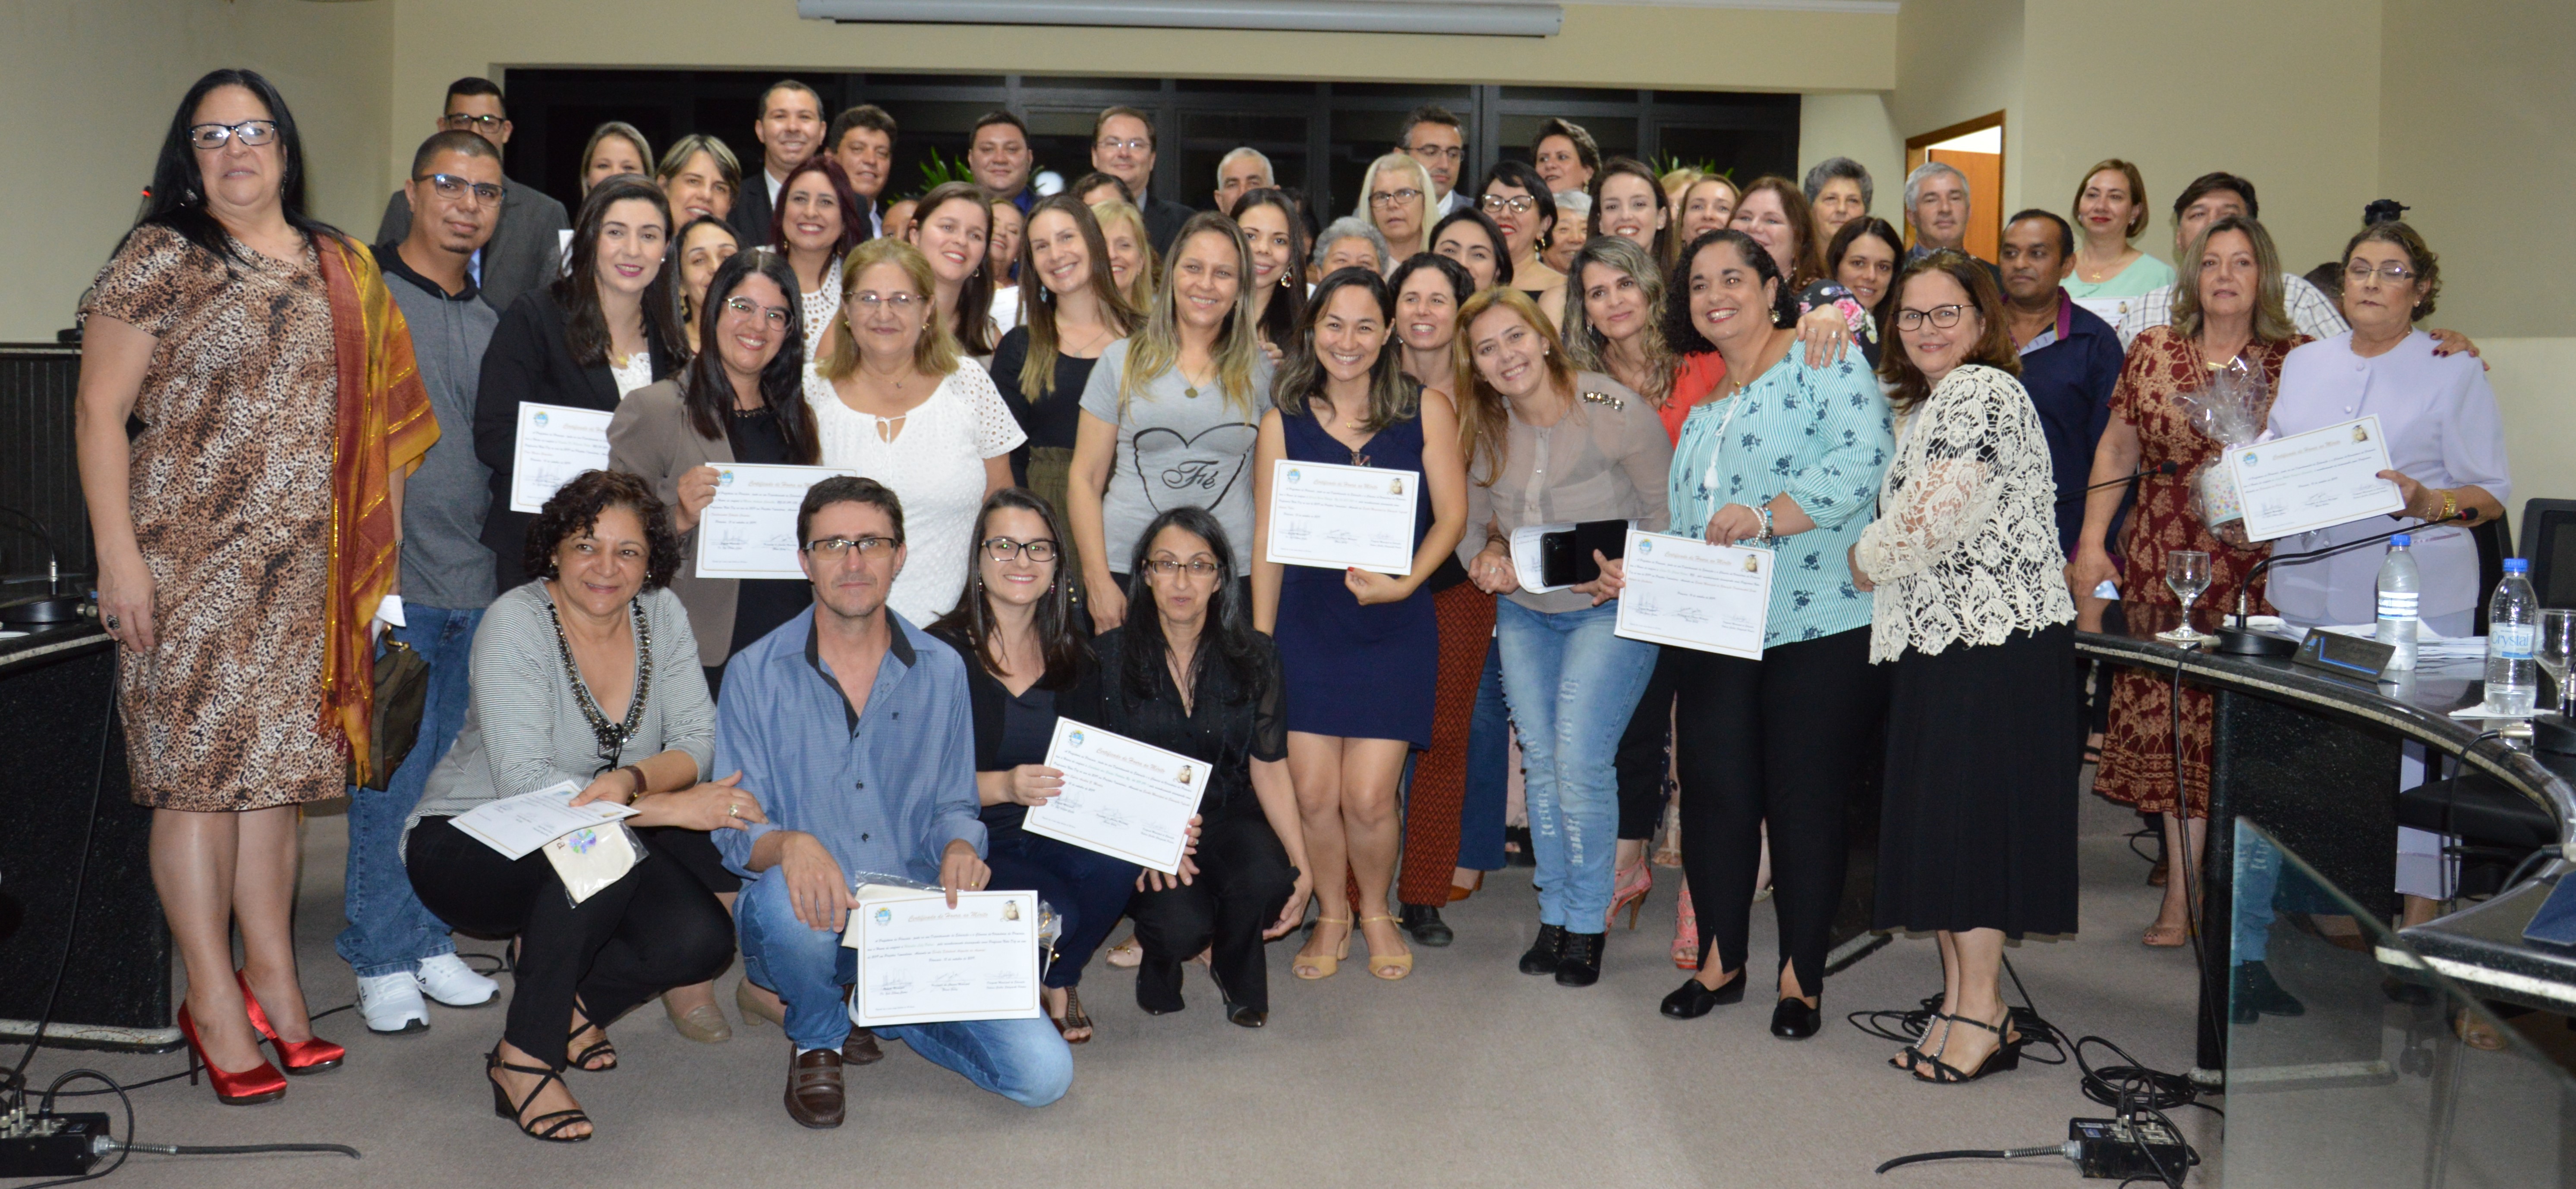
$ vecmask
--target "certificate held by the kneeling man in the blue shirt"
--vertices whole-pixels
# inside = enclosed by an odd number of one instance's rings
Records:
[[[1038,893],[863,883],[840,945],[858,950],[858,1027],[1038,1019]]]

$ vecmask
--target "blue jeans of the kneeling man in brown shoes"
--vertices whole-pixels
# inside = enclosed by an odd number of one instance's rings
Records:
[[[788,880],[778,870],[742,885],[734,932],[742,939],[742,973],[778,991],[788,1009],[788,1040],[799,1053],[837,1050],[850,1040],[850,1009],[840,996],[858,981],[858,950],[840,945],[832,929],[799,921]],[[933,1065],[953,1068],[1020,1107],[1046,1107],[1074,1083],[1074,1050],[1043,1017],[904,1024],[876,1035],[902,1040]]]

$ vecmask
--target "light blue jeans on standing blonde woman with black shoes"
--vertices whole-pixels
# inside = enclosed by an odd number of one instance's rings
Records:
[[[1618,852],[1618,739],[1654,677],[1656,649],[1615,636],[1618,602],[1535,613],[1494,605],[1502,695],[1520,723],[1520,767],[1538,852],[1538,924],[1605,932]]]

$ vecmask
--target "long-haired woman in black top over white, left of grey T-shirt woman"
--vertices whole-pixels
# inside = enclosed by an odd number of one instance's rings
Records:
[[[1061,522],[1072,515],[1064,486],[1082,427],[1082,389],[1110,342],[1136,332],[1139,314],[1118,296],[1108,239],[1082,198],[1059,193],[1028,211],[1020,242],[1020,324],[992,353],[992,383],[1020,419],[1028,445],[1012,453],[1012,474]],[[1072,538],[1056,543],[1059,574],[1082,574]]]

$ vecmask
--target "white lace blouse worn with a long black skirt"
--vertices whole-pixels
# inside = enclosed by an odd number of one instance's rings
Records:
[[[1899,430],[1878,520],[1855,548],[1878,584],[1870,661],[2074,620],[2056,494],[2022,381],[1973,363],[1942,376]]]

